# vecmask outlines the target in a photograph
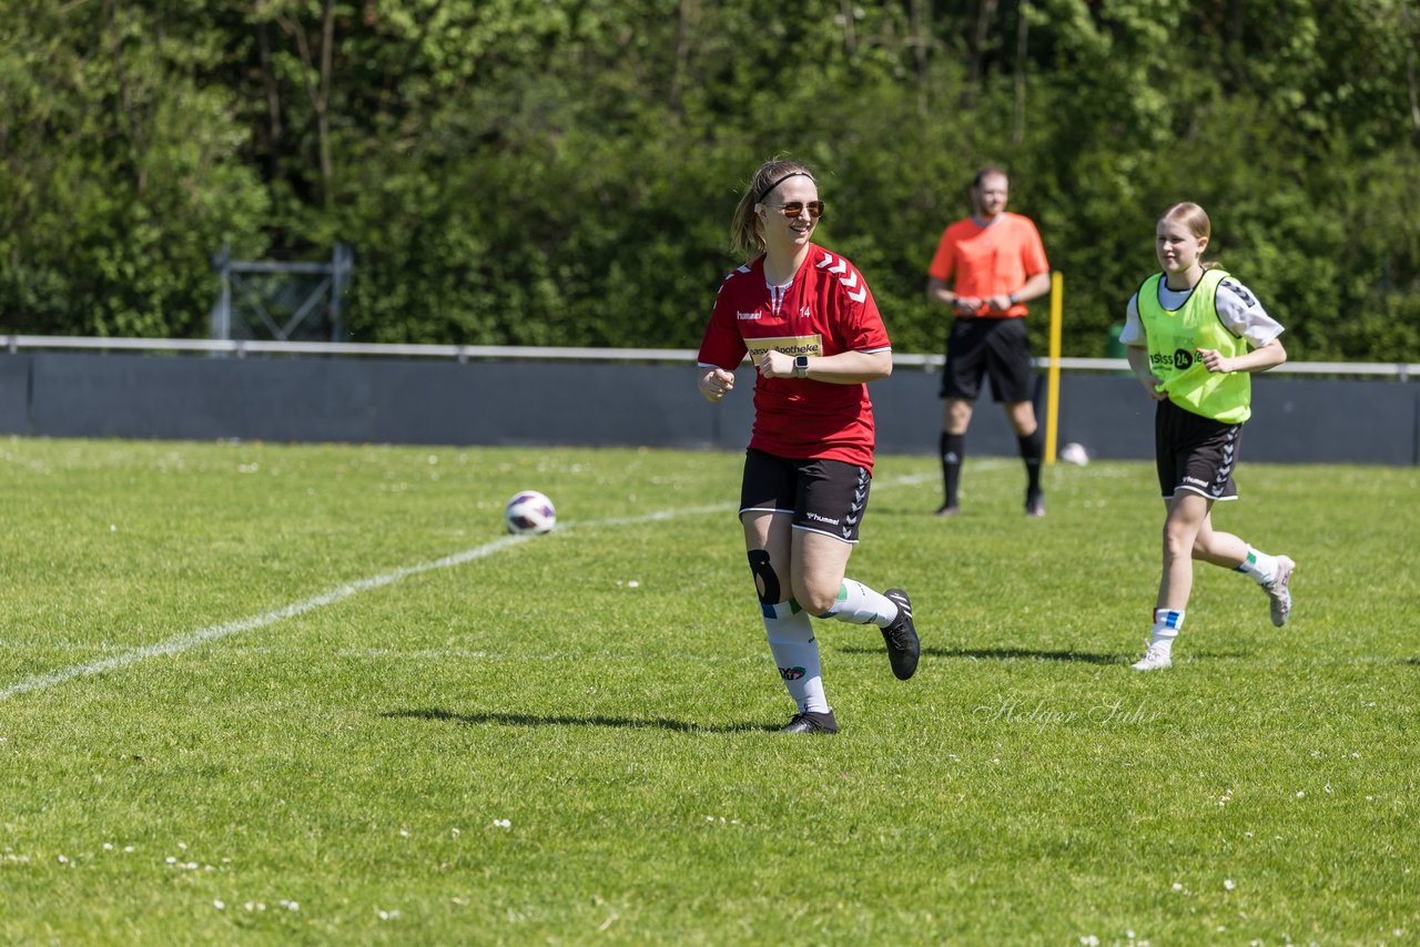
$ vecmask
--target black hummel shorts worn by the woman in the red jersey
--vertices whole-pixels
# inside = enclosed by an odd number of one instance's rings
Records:
[[[744,451],[740,515],[750,510],[792,513],[794,528],[858,542],[872,477],[842,460],[792,460],[753,447]]]

